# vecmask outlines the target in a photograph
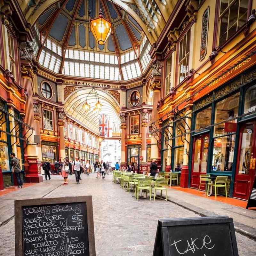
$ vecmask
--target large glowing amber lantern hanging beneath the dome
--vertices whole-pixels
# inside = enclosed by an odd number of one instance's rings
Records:
[[[90,21],[91,23],[91,31],[98,44],[105,44],[108,39],[108,36],[111,33],[111,26],[108,20],[103,18],[102,10],[100,9],[99,17]]]

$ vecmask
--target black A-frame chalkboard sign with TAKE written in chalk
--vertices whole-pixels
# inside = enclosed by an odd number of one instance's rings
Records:
[[[238,256],[228,216],[158,220],[153,256]]]

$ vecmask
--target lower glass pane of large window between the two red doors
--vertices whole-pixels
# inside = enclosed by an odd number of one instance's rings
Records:
[[[232,171],[236,135],[214,139],[212,171]]]

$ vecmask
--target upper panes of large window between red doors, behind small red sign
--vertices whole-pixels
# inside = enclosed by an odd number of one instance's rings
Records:
[[[238,114],[239,92],[219,101],[215,107],[214,123],[224,122],[214,126],[214,137],[236,132],[236,119],[231,120]]]

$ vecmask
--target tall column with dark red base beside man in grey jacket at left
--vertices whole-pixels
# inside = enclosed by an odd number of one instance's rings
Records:
[[[24,65],[26,64],[26,66]],[[26,62],[22,64],[21,67],[21,74],[22,74],[22,82],[23,82],[23,87],[24,87],[24,92],[26,93],[26,104],[25,104],[25,109],[26,109],[26,123],[35,129],[35,124],[34,124],[34,109],[33,109],[33,100],[32,100],[32,95],[33,95],[33,80],[32,80],[32,69],[31,66]],[[25,129],[25,133],[28,130]],[[25,134],[24,133],[24,134]],[[32,134],[31,134],[32,133]],[[41,175],[41,161],[38,160],[38,156],[36,154],[36,145],[34,143],[34,135],[35,135],[35,130],[29,131],[28,134],[26,135],[27,138],[29,135],[31,135],[28,140],[29,144],[25,149],[25,163],[24,163],[24,168],[25,168],[25,181],[26,182],[42,182],[43,181],[43,176]]]

